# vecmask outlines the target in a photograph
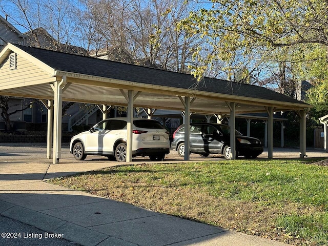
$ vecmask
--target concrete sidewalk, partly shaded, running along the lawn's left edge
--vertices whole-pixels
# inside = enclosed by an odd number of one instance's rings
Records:
[[[0,214],[81,245],[286,245],[42,181],[116,164],[0,162]]]

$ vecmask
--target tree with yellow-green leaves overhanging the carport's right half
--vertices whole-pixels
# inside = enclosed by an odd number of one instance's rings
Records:
[[[248,64],[249,71],[267,63],[275,64],[278,70],[283,64],[297,64],[299,68],[311,66],[313,60],[322,58],[314,51],[316,47],[325,52],[324,68],[327,68],[327,0],[213,0],[207,3],[179,24],[182,30],[191,36],[199,35],[212,47],[206,56],[199,55],[202,47],[195,51],[194,57],[204,64],[191,67],[196,77],[201,78],[217,60],[224,62],[228,79],[244,64]],[[280,55],[274,56],[276,54]]]

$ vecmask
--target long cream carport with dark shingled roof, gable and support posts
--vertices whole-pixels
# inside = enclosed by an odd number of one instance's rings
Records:
[[[231,152],[235,156],[235,115],[267,112],[268,156],[273,158],[273,113],[295,111],[300,117],[300,157],[305,156],[305,113],[311,107],[263,87],[141,67],[92,57],[7,44],[0,52],[0,94],[41,99],[48,108],[47,157],[59,163],[61,104],[64,101],[128,107],[127,161],[132,160],[133,108],[168,109],[230,115]],[[53,122],[53,125],[52,125]],[[53,134],[51,131],[53,129]],[[53,139],[52,139],[53,135]],[[185,133],[189,149],[189,132]],[[185,160],[189,159],[186,152]]]

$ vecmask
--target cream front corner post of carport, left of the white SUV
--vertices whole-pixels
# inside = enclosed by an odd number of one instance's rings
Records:
[[[61,81],[55,81],[51,85],[54,91],[53,164],[59,163],[61,157],[61,112],[63,107],[63,88],[66,84],[66,76],[64,76]]]

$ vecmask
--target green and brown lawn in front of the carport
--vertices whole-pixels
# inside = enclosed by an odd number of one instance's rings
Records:
[[[328,245],[328,167],[311,161],[142,163],[49,182],[294,245]]]

